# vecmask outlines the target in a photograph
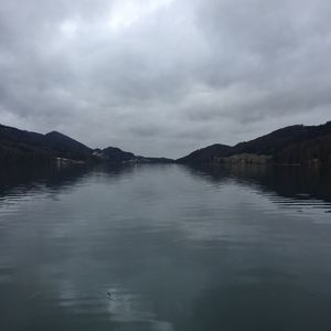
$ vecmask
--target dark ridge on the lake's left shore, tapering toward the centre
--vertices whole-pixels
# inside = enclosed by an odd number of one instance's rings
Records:
[[[46,135],[0,125],[0,163],[24,162],[172,162],[164,158],[145,158],[119,148],[92,149],[57,131]]]

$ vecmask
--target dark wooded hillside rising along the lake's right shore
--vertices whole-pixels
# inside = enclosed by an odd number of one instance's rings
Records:
[[[236,157],[243,156],[246,157]],[[247,154],[249,157],[247,157]],[[253,160],[252,154],[267,156],[276,163],[331,163],[331,121],[320,126],[290,126],[234,147],[212,145],[178,159],[179,163],[209,163]],[[231,158],[228,158],[231,157]],[[260,160],[260,159],[258,159]]]

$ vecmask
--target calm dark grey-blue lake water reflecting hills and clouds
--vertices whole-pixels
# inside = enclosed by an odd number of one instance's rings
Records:
[[[331,177],[0,174],[0,330],[331,330]]]

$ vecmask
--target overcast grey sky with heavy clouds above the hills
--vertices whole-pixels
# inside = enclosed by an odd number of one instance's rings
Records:
[[[331,119],[330,0],[0,0],[0,124],[178,158]]]

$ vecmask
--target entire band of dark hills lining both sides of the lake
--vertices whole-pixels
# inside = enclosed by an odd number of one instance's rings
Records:
[[[116,147],[92,149],[57,131],[46,135],[0,125],[0,164],[60,163],[226,163],[331,166],[331,121],[296,125],[235,146],[215,143],[172,160],[148,158]]]

